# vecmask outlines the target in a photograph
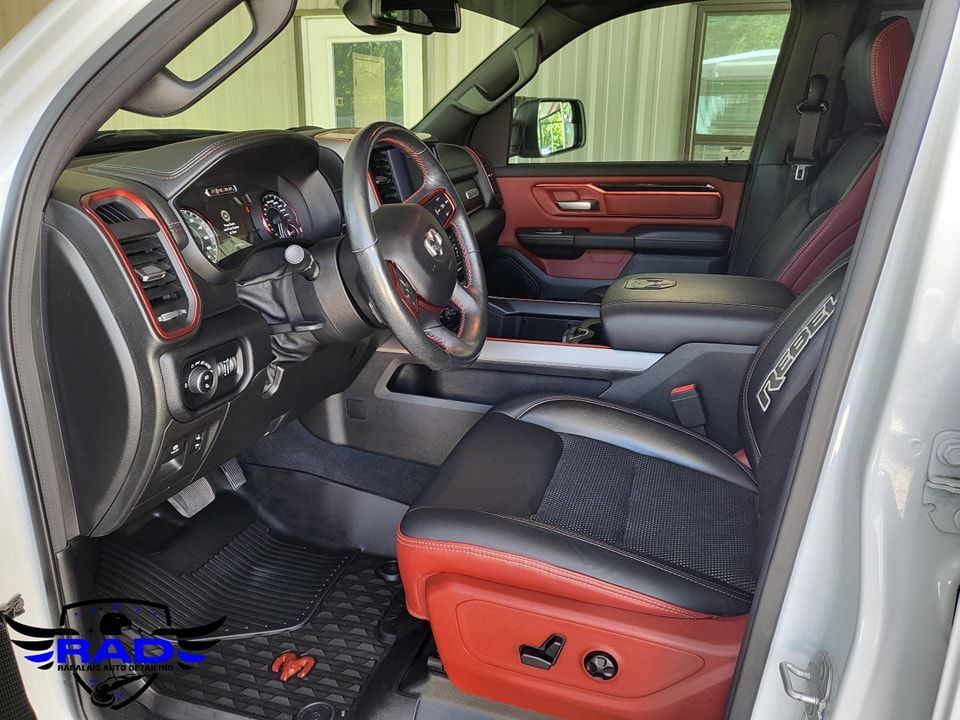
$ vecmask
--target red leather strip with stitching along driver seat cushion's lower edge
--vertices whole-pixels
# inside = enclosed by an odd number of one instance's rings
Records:
[[[641,612],[697,620],[711,617],[538,560],[444,540],[412,538],[397,531],[397,561],[411,615],[428,619],[425,585],[430,577],[454,574],[534,592]]]

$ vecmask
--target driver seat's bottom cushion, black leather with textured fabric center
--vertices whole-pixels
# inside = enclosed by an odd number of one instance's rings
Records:
[[[482,548],[638,602],[741,615],[756,523],[753,478],[719,446],[659,418],[551,396],[474,426],[404,517],[399,555],[421,616],[430,571],[410,552],[418,540],[449,551],[446,572],[477,576]]]

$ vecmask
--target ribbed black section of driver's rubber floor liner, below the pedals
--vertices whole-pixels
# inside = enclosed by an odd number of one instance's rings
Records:
[[[195,570],[171,572],[130,546],[103,544],[102,597],[161,602],[178,626],[226,616],[217,637],[275,633],[307,622],[356,556],[304,547],[254,521]]]

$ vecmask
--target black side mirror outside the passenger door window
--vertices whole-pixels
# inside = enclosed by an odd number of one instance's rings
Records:
[[[516,98],[510,154],[544,158],[583,147],[583,103],[570,98]]]

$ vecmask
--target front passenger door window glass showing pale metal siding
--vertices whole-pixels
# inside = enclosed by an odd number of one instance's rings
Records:
[[[510,162],[749,159],[789,17],[789,3],[706,0],[593,28],[517,96],[579,100],[582,146]]]

